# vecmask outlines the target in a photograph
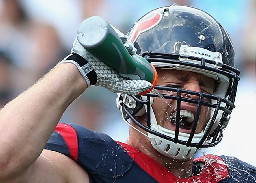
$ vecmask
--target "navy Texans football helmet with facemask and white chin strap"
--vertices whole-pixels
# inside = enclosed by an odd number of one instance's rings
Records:
[[[226,30],[202,10],[172,5],[152,10],[142,16],[130,28],[127,36],[137,48],[137,54],[146,58],[155,67],[204,74],[214,79],[215,89],[211,95],[157,85],[153,92],[143,96],[118,94],[117,105],[123,119],[138,131],[147,132],[142,133],[156,150],[167,157],[190,158],[198,148],[218,144],[229,122],[232,109],[235,108],[234,100],[239,81],[239,70],[234,68],[233,44]],[[192,99],[183,97],[184,94],[198,97]],[[155,97],[176,100],[175,115],[170,114],[175,118],[175,131],[163,128],[157,123],[152,108]],[[181,102],[197,104],[196,113],[190,114],[190,117],[189,112],[187,116],[184,115]],[[202,132],[196,133],[203,106],[210,108],[210,120]],[[142,115],[146,116],[147,124],[137,120],[136,116]],[[136,125],[132,125],[129,119]],[[179,132],[181,123],[185,123],[186,120],[192,121],[191,132]]]

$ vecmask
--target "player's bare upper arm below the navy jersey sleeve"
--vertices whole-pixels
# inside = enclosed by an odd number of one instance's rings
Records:
[[[63,154],[43,150],[30,167],[25,182],[89,183],[88,173]]]

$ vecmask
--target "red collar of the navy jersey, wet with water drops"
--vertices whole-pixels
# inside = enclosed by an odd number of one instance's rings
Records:
[[[170,170],[167,170],[162,165],[157,163],[153,158],[143,154],[138,149],[118,142],[126,150],[131,158],[151,177],[160,183],[194,183],[194,182],[211,182],[217,183],[229,176],[228,168],[223,162],[223,160],[214,155],[206,155],[205,159],[203,157],[197,158],[194,161],[200,161],[205,163],[205,168],[199,173],[188,178],[179,179]]]

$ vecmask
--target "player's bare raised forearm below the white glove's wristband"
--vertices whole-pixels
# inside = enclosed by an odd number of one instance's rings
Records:
[[[59,64],[0,111],[0,172],[28,168],[39,157],[65,109],[87,87],[71,63]]]

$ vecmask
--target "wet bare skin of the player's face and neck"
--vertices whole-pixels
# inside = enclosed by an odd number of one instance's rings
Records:
[[[213,94],[214,79],[209,78],[203,74],[194,73],[190,71],[178,71],[174,69],[159,69],[159,68],[157,68],[157,72],[158,72],[157,85],[160,85],[160,86],[175,85],[186,90],[191,90],[195,92],[202,91],[205,93]],[[176,95],[174,92],[173,93],[168,93],[163,91],[159,91],[159,92],[163,94]],[[182,94],[183,97],[185,97],[185,95],[186,94]],[[197,96],[191,96],[191,98],[196,99]],[[167,100],[167,101],[168,103],[176,107],[176,104],[177,104],[176,100]],[[166,104],[165,101],[161,98],[157,98],[157,99],[154,98],[152,107],[153,107],[158,124],[163,126],[164,128],[175,131],[175,126],[171,123],[169,118],[171,113],[174,112],[174,109],[168,106],[168,104]],[[194,113],[196,113],[195,111],[197,109],[197,104],[182,102],[181,109],[194,111]],[[199,123],[196,128],[196,133],[201,132],[202,129],[205,128],[205,125],[209,121],[209,118],[210,118],[210,109],[208,107],[202,106]],[[143,116],[136,117],[136,119],[144,125],[147,124],[146,114],[144,114]],[[133,125],[135,124],[133,123]],[[189,131],[186,129],[185,130],[180,129],[180,132],[181,131],[190,133],[191,130]],[[147,134],[147,132],[143,130],[142,132]],[[130,134],[129,134],[129,138],[126,140],[126,144],[130,144],[133,147],[140,150],[142,153],[152,157],[160,165],[170,170],[171,173],[173,173],[175,176],[179,178],[189,177],[192,174],[191,170],[192,170],[193,157],[185,160],[177,160],[177,159],[166,157],[161,153],[159,153],[156,149],[154,149],[153,146],[151,145],[151,142],[147,140],[147,138],[144,135],[139,133],[137,130],[134,130],[133,128],[130,128]],[[181,171],[182,169],[184,171]],[[188,171],[189,173],[186,173],[186,171]]]

